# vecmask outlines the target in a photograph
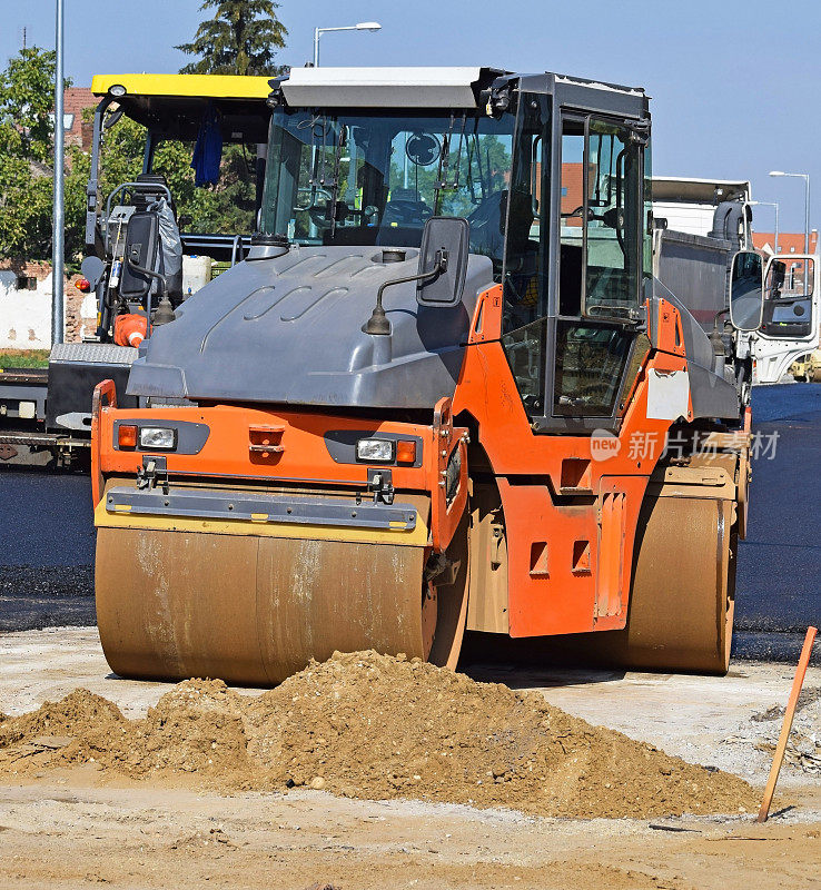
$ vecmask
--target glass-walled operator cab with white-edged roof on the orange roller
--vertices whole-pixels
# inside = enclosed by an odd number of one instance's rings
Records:
[[[264,233],[413,249],[427,220],[466,219],[534,428],[617,423],[652,277],[641,89],[489,68],[294,69],[271,86]]]

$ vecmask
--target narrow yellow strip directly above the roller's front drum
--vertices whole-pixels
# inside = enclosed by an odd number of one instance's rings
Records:
[[[427,525],[418,512],[416,525],[412,530],[357,528],[348,525],[274,523],[259,520],[199,520],[187,516],[140,516],[132,513],[110,513],[106,510],[103,500],[95,510],[95,525],[98,528],[145,528],[155,532],[347,541],[353,544],[399,544],[412,547],[424,547],[427,544]]]

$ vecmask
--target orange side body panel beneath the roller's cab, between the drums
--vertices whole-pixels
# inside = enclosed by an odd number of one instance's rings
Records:
[[[507,528],[510,633],[624,627],[639,512],[670,428],[669,421],[647,419],[646,370],[686,367],[679,313],[667,304],[660,319],[675,353],[645,359],[606,459],[596,459],[591,436],[534,434],[497,339],[501,316],[497,286],[477,304],[454,414],[475,418],[497,477]],[[655,447],[633,448],[636,441]]]

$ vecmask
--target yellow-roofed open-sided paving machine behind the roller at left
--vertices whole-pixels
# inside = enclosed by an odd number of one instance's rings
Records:
[[[78,286],[93,298],[95,308],[87,314],[97,315],[97,326],[85,333],[82,343],[55,345],[48,368],[0,368],[0,462],[88,466],[93,388],[110,378],[120,403],[137,406],[137,399],[126,395],[126,382],[162,289],[177,305],[211,278],[215,264],[231,266],[250,247],[270,117],[267,78],[98,76],[91,90],[99,103],[87,186],[87,257]],[[121,138],[118,123],[123,119],[145,127],[142,169],[135,181],[119,182],[103,194],[100,170],[106,170],[107,146]],[[157,149],[164,142],[192,154],[208,120],[221,144],[244,147],[245,181],[258,182],[256,200],[237,209],[236,219],[245,212],[248,220],[240,230],[215,231],[214,220],[178,217],[168,181],[157,167]],[[219,165],[219,152],[215,158]]]

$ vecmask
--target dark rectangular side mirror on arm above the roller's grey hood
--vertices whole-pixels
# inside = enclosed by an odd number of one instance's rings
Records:
[[[416,285],[419,306],[456,306],[461,301],[469,241],[471,224],[466,219],[434,216],[425,222]]]

